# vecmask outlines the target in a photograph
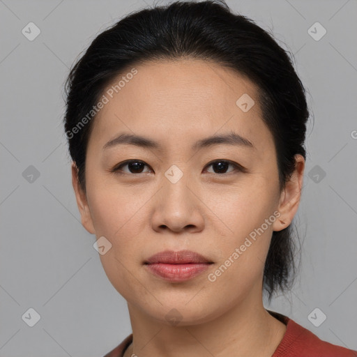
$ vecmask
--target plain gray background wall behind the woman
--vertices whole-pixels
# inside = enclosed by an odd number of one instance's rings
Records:
[[[131,332],[126,301],[107,280],[95,236],[80,224],[62,96],[79,53],[146,3],[0,0],[1,357],[98,357]],[[305,237],[301,274],[291,293],[265,305],[357,349],[357,1],[227,3],[295,54],[314,114],[296,215]],[[29,22],[41,31],[33,41],[22,34]],[[315,22],[327,30],[320,40],[307,32]],[[32,182],[30,165],[40,174]],[[30,307],[40,314],[33,327],[22,319]],[[319,327],[307,318],[316,307],[327,316]]]

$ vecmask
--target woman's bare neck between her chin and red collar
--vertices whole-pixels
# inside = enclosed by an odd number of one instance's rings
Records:
[[[182,326],[153,319],[130,303],[128,308],[133,342],[126,357],[271,357],[286,331],[286,326],[266,311],[261,298],[248,297],[236,305],[232,302],[231,308],[217,312],[217,317]]]

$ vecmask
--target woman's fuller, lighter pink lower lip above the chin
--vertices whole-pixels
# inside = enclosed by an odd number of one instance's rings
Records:
[[[154,275],[160,276],[165,280],[172,282],[182,282],[195,278],[208,269],[209,263],[191,263],[191,264],[146,264],[146,268]]]

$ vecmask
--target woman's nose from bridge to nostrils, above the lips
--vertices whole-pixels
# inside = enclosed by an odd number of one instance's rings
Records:
[[[155,231],[202,231],[204,204],[193,186],[185,174],[177,182],[163,176],[161,189],[153,201],[151,227]]]

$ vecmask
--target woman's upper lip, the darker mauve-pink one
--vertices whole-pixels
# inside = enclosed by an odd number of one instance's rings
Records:
[[[203,255],[191,250],[180,250],[174,252],[174,250],[165,250],[152,255],[149,259],[146,259],[145,264],[190,264],[190,263],[213,263],[209,261]]]

